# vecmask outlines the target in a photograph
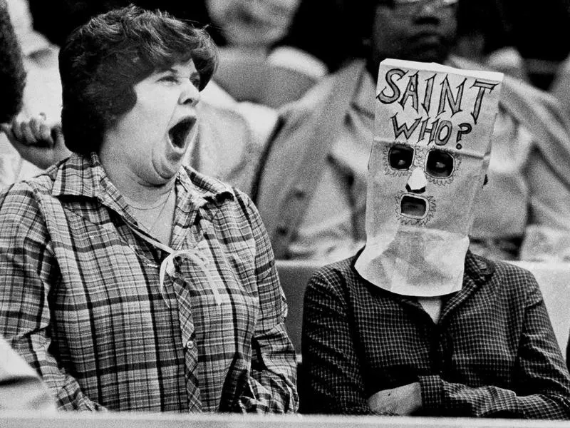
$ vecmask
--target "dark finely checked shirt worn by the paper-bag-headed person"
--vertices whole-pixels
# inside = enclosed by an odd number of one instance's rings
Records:
[[[321,268],[306,291],[306,410],[369,414],[375,392],[419,382],[425,415],[570,418],[570,376],[530,272],[467,253],[462,290],[434,324],[354,260]]]

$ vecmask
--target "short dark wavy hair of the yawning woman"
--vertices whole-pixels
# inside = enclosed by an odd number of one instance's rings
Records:
[[[98,151],[105,130],[135,106],[135,84],[190,58],[202,90],[217,66],[214,42],[204,29],[161,11],[127,6],[73,31],[59,53],[68,149]]]

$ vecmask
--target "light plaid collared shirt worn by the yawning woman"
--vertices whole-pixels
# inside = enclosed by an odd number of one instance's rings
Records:
[[[95,154],[2,193],[0,333],[61,409],[296,410],[286,302],[256,208],[190,169],[175,188],[172,249],[205,265],[177,258],[162,289],[167,254],[133,233]]]

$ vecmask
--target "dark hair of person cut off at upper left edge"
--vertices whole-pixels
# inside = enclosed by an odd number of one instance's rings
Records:
[[[22,107],[26,71],[6,2],[0,0],[0,122],[9,122]]]

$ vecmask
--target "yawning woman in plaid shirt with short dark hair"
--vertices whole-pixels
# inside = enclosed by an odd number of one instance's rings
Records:
[[[134,6],[60,51],[76,154],[0,195],[0,333],[59,409],[297,407],[257,210],[182,166],[215,65],[203,30]]]

